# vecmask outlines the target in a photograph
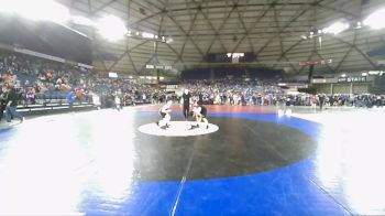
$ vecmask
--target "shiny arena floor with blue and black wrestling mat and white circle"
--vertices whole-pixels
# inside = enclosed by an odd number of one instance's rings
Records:
[[[209,106],[193,131],[157,109],[0,128],[0,215],[385,214],[383,109]]]

